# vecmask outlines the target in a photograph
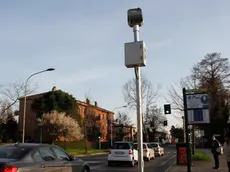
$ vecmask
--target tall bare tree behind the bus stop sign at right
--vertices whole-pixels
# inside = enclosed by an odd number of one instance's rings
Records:
[[[228,58],[222,58],[220,53],[211,53],[194,65],[191,75],[181,80],[177,85],[169,89],[169,98],[172,108],[183,111],[182,88],[204,89],[211,97],[210,101],[210,125],[202,126],[207,135],[213,132],[222,132],[224,122],[229,115],[229,88],[230,65]],[[220,121],[220,122],[218,122]],[[222,128],[221,128],[222,127]]]

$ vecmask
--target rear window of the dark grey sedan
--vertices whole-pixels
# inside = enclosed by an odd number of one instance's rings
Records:
[[[29,151],[30,148],[17,147],[17,146],[0,146],[0,158],[21,159]]]

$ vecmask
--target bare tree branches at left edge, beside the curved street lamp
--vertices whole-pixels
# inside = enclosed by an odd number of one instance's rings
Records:
[[[16,81],[14,83],[1,86],[0,87],[0,104],[2,102],[7,101],[7,106],[5,106],[5,109],[2,109],[0,116],[2,116],[5,111],[7,111],[9,108],[13,108],[14,105],[17,104],[20,97],[26,95],[29,95],[35,91],[35,87],[30,87],[27,85],[27,91],[25,93],[25,83]]]

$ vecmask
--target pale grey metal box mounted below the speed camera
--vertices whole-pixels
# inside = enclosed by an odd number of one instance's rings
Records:
[[[125,43],[125,66],[127,68],[146,66],[144,41]]]

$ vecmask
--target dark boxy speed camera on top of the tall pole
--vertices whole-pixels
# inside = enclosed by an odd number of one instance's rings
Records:
[[[142,10],[140,8],[133,8],[128,10],[128,24],[130,27],[135,25],[143,25]]]

